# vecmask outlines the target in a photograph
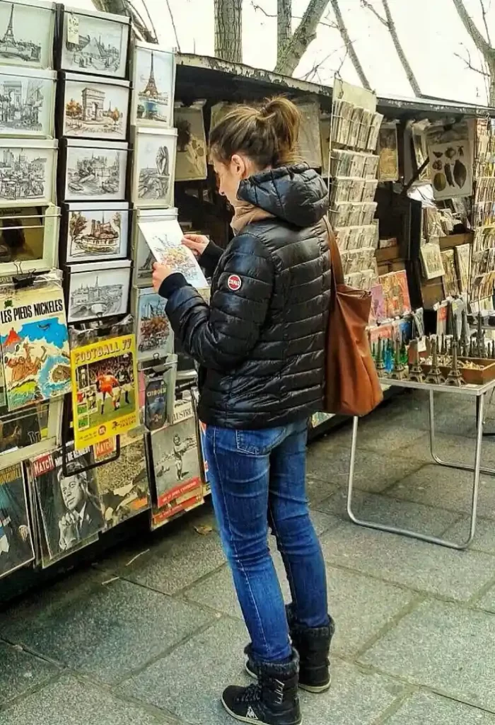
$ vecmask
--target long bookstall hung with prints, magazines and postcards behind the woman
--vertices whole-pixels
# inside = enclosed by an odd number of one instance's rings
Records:
[[[371,290],[387,372],[397,346],[405,365],[410,339],[426,355],[426,331],[444,324],[445,345],[453,318],[493,309],[495,262],[489,109],[340,81],[332,95],[38,0],[0,0],[0,37],[2,601],[208,495],[197,374],[151,269],[168,260],[208,299],[181,239],[229,242],[207,146],[230,104],[282,92],[300,107],[300,153],[329,178],[346,275]],[[334,422],[314,416],[310,436]]]

